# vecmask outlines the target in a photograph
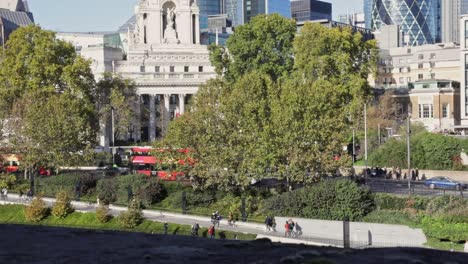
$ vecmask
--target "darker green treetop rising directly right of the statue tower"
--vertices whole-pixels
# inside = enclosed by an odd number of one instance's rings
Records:
[[[279,14],[258,15],[236,27],[227,49],[211,47],[211,62],[229,81],[250,71],[268,74],[273,80],[291,72],[296,22]]]

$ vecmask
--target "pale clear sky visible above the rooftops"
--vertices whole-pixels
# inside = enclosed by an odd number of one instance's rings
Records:
[[[286,0],[284,0],[286,1]],[[363,10],[363,0],[322,0],[333,17]],[[133,14],[138,0],[28,0],[34,20],[44,29],[66,32],[114,31]]]

